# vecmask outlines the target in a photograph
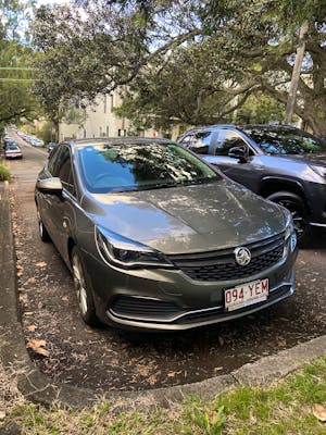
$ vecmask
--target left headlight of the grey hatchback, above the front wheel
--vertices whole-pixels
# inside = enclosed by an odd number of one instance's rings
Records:
[[[125,269],[173,268],[163,253],[102,227],[95,227],[98,251],[105,263]]]

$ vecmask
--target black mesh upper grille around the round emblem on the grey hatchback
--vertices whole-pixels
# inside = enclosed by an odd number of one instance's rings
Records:
[[[251,252],[247,265],[236,263],[235,248],[212,252],[168,256],[173,264],[196,281],[228,281],[244,278],[271,268],[280,261],[284,252],[284,233],[259,243],[246,245]]]

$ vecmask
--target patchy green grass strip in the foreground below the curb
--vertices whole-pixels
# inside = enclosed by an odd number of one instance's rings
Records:
[[[75,411],[23,399],[10,408],[4,424],[15,422],[28,435],[322,435],[326,423],[313,415],[315,403],[326,407],[326,356],[265,388],[246,386],[212,401],[188,397],[170,409],[116,417],[110,403]]]

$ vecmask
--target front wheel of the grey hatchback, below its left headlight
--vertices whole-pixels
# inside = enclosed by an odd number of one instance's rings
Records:
[[[74,246],[72,251],[72,268],[74,287],[77,294],[77,301],[82,319],[88,325],[96,326],[99,321],[96,315],[92,290],[85,273],[80,250],[76,246]]]

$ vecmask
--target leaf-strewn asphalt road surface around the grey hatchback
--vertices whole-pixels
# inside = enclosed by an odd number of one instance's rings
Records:
[[[296,294],[254,315],[137,339],[88,327],[78,315],[70,272],[54,247],[38,237],[34,186],[47,151],[16,138],[24,159],[8,165],[15,176],[11,204],[22,324],[30,358],[52,378],[120,390],[179,385],[326,334],[326,232],[321,229],[299,253]]]

